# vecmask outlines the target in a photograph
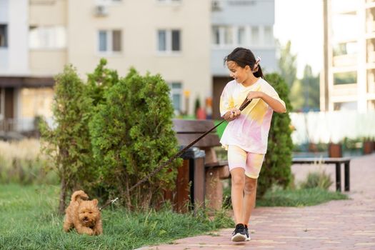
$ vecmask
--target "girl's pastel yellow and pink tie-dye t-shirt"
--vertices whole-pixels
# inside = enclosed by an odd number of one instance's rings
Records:
[[[259,78],[251,86],[243,86],[236,80],[226,84],[220,97],[220,114],[224,114],[232,108],[237,108],[246,99],[249,91],[261,91],[281,102],[279,94],[264,79]],[[229,124],[221,136],[221,144],[227,149],[228,145],[236,145],[245,151],[255,154],[266,154],[269,127],[274,110],[262,99],[253,99],[237,119],[229,121]]]

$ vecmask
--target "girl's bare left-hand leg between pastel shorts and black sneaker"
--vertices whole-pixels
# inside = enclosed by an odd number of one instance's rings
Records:
[[[249,178],[249,177],[246,177]],[[231,170],[231,205],[233,207],[234,221],[244,224],[244,186],[245,170],[241,167]]]

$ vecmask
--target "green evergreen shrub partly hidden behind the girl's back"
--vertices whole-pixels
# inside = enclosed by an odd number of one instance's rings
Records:
[[[280,98],[285,102],[286,114],[277,114],[274,112],[272,117],[268,149],[258,179],[257,193],[259,196],[263,196],[267,189],[274,184],[283,187],[289,185],[291,181],[291,154],[293,149],[291,119],[288,113],[291,111],[288,86],[279,74],[267,74],[266,80],[274,87]]]

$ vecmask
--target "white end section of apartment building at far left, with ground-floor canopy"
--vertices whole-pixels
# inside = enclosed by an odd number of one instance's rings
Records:
[[[0,131],[32,126],[36,113],[47,105],[39,104],[46,101],[44,96],[36,94],[32,103],[27,96],[31,89],[54,84],[51,77],[33,76],[29,67],[28,18],[29,1],[0,0]],[[17,122],[19,117],[25,120]]]

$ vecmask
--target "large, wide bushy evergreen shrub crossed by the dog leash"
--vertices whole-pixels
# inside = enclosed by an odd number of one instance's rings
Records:
[[[174,184],[175,161],[129,192],[139,180],[173,156],[178,144],[172,130],[174,109],[161,76],[140,76],[131,69],[105,93],[89,127],[94,156],[101,162],[102,184],[129,209],[148,208]]]

